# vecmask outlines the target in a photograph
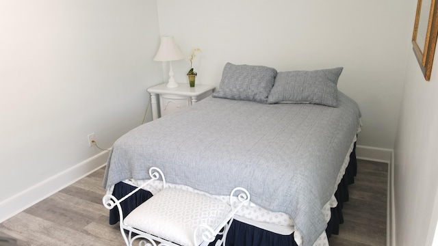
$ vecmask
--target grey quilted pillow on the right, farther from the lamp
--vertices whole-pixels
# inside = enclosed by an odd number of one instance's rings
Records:
[[[337,79],[343,68],[279,72],[268,103],[315,103],[337,107]]]

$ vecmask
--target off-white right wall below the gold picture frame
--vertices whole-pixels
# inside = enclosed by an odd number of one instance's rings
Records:
[[[396,245],[432,245],[438,221],[437,57],[425,81],[409,54],[394,147]]]

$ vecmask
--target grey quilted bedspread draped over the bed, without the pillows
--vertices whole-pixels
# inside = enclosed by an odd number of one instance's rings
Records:
[[[152,166],[167,182],[211,194],[244,187],[255,204],[291,215],[304,245],[313,245],[359,128],[357,103],[342,92],[338,100],[335,108],[205,98],[120,137],[103,187],[147,179]]]

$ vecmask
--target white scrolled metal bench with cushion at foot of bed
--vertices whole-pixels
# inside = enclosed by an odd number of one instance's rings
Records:
[[[140,240],[144,246],[198,246],[208,245],[218,234],[222,238],[216,245],[225,245],[227,232],[233,216],[240,207],[249,204],[246,189],[237,187],[231,191],[229,204],[200,193],[166,187],[160,169],[149,169],[151,180],[125,195],[120,200],[113,195],[103,197],[103,205],[118,208],[120,232],[127,246]],[[161,176],[163,189],[123,218],[120,202]],[[125,230],[128,232],[126,235]],[[158,242],[158,243],[157,243]]]

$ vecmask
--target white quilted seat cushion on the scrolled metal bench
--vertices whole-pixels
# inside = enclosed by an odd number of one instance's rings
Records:
[[[231,207],[220,200],[181,189],[167,188],[138,206],[125,224],[180,245],[194,245],[196,226],[219,226]],[[198,242],[201,242],[201,235]]]

